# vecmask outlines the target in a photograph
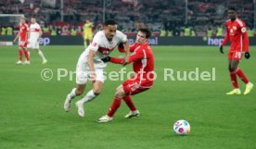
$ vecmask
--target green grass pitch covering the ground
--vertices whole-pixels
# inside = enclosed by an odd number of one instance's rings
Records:
[[[0,148],[2,149],[255,149],[256,90],[250,95],[225,95],[232,89],[227,70],[227,51],[217,46],[152,46],[158,78],[149,91],[133,96],[140,118],[125,119],[122,102],[114,119],[99,124],[122,81],[105,81],[103,92],[84,105],[79,118],[72,103],[69,113],[63,102],[75,85],[75,76],[58,81],[58,68],[74,71],[83,46],[42,46],[48,60],[31,52],[30,66],[17,66],[18,46],[0,46]],[[243,58],[240,68],[256,85],[256,52]],[[117,51],[111,56],[120,56]],[[53,71],[51,81],[41,71]],[[122,66],[109,64],[106,71]],[[131,66],[127,66],[131,70]],[[211,71],[216,81],[164,81],[164,68],[176,71]],[[245,85],[238,81],[242,92]],[[87,86],[87,90],[91,85]],[[83,94],[84,95],[84,94]],[[75,101],[80,99],[77,97]],[[178,136],[173,123],[186,119],[191,133]]]

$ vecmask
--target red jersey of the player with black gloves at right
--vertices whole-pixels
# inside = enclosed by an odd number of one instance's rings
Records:
[[[226,34],[222,45],[230,40],[231,52],[249,52],[249,38],[247,34],[246,24],[241,19],[225,22]]]

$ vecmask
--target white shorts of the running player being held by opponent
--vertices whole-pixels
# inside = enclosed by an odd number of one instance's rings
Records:
[[[83,56],[83,55],[82,55]],[[80,56],[76,66],[76,83],[86,84],[90,79],[90,68],[87,63],[87,59]],[[104,82],[104,68],[96,68],[96,81]]]

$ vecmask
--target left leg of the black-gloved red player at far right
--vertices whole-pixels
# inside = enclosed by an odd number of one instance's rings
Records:
[[[230,73],[230,79],[232,81],[234,90],[232,90],[229,93],[226,94],[240,94],[241,91],[238,87],[238,83],[237,83],[237,66],[239,64],[239,60],[237,59],[228,59],[228,69],[229,69],[229,73]]]

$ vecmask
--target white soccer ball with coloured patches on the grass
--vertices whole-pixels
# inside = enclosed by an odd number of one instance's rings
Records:
[[[186,120],[181,119],[174,123],[173,130],[177,134],[186,135],[190,132],[190,125]]]

